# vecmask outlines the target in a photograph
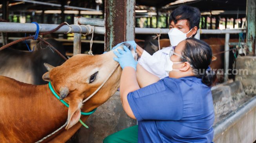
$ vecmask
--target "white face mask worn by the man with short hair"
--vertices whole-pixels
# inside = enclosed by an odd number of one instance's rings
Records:
[[[192,29],[190,29],[189,32],[191,30]],[[181,30],[176,29],[176,28],[170,29],[169,32],[168,32],[168,35],[169,35],[169,39],[170,39],[171,45],[172,46],[177,46],[178,43],[180,43],[181,41],[187,39],[187,34],[189,32],[183,33]],[[191,37],[192,37],[192,35],[189,38],[191,38]]]

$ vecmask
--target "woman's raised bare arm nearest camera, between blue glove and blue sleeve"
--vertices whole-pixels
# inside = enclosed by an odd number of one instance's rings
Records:
[[[140,89],[136,79],[136,71],[132,67],[123,68],[120,79],[120,95],[124,111],[133,119],[136,119],[128,103],[127,95],[130,92]]]

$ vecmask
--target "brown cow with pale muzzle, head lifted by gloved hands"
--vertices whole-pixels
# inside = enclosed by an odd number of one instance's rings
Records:
[[[100,106],[118,88],[120,66],[98,93],[82,104],[118,64],[113,57],[113,51],[94,56],[79,54],[56,68],[46,66],[49,72],[43,75],[44,80],[51,81],[56,93],[63,93],[64,97],[68,94],[64,100],[69,108],[54,97],[47,84],[35,86],[0,76],[0,143],[36,142],[66,121],[67,130],[60,130],[44,142],[64,143],[71,138],[81,127],[78,120],[86,121],[89,117],[81,116],[80,112],[89,112]]]

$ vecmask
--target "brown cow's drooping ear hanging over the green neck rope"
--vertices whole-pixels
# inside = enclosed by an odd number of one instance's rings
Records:
[[[75,125],[81,116],[81,109],[82,101],[78,99],[74,99],[71,102],[69,102],[69,111],[67,115],[67,126],[66,129],[71,128],[73,125]]]

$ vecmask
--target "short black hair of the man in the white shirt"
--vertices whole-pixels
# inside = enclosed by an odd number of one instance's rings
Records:
[[[189,30],[195,26],[199,29],[200,19],[201,13],[198,8],[182,5],[172,11],[169,18],[169,25],[171,25],[171,21],[174,21],[176,24],[178,20],[187,20],[189,22]]]

